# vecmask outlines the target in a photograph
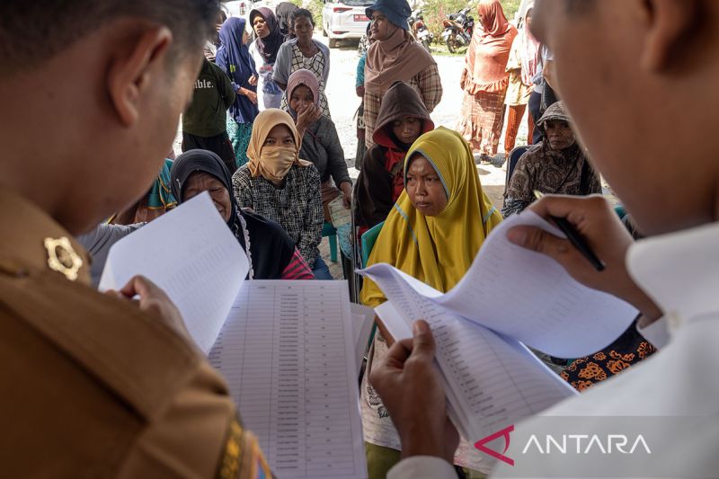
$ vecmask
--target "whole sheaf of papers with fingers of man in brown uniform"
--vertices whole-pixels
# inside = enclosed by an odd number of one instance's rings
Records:
[[[278,477],[367,477],[357,373],[373,312],[352,314],[346,282],[244,281],[248,269],[203,193],[115,244],[101,286],[143,274],[166,291]],[[173,316],[143,279],[123,292]]]

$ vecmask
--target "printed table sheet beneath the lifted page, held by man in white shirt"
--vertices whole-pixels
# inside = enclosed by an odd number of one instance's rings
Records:
[[[409,294],[377,315],[396,340],[412,337],[410,317],[430,324],[449,417],[471,444],[577,394],[521,343]]]

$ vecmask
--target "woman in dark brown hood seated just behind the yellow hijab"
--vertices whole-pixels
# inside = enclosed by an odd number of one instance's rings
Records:
[[[430,112],[419,93],[404,84],[393,84],[382,100],[375,145],[364,156],[357,180],[355,219],[359,232],[385,221],[404,190],[404,156],[418,137],[434,129]]]

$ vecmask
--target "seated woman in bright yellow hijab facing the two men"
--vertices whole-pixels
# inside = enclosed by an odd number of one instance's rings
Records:
[[[404,162],[404,191],[386,219],[368,264],[387,262],[446,292],[469,270],[484,238],[502,221],[479,182],[475,159],[456,132],[439,128],[425,133],[410,147]],[[386,301],[377,285],[366,279],[361,301],[376,307]],[[387,344],[377,333],[362,378],[362,422],[370,479],[385,477],[400,460],[400,442],[385,406],[368,384],[374,359],[386,354]],[[482,477],[486,463],[465,440],[455,464]]]

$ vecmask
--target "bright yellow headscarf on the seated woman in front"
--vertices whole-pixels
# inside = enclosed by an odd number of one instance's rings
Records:
[[[417,211],[403,191],[386,219],[368,264],[389,263],[432,288],[447,292],[469,270],[476,253],[502,215],[479,182],[472,150],[456,131],[439,128],[419,137],[404,160],[421,154],[439,173],[447,192],[447,207],[436,217]],[[377,285],[365,279],[363,304],[386,301]]]

